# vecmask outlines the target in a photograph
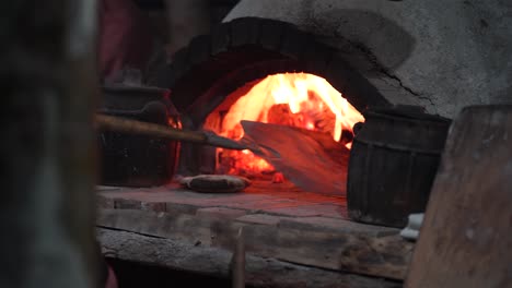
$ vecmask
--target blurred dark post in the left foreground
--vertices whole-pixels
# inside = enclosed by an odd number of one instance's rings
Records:
[[[0,287],[96,287],[96,2],[0,9]]]

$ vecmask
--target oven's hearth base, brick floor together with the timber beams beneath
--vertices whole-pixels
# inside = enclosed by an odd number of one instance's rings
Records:
[[[228,277],[243,229],[254,285],[263,277],[271,287],[299,287],[319,273],[325,287],[396,287],[380,278],[403,280],[414,247],[396,228],[349,220],[345,197],[290,183],[255,181],[241,193],[177,184],[96,190],[98,240],[110,257]]]

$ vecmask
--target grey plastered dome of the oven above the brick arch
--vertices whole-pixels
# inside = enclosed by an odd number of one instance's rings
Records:
[[[292,23],[342,51],[392,103],[453,118],[512,101],[510,0],[242,0],[224,21]]]

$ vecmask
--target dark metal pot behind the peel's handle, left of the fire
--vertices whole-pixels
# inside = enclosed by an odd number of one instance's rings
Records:
[[[114,84],[103,87],[101,113],[178,128],[170,92]],[[167,183],[176,167],[178,143],[159,137],[103,131],[98,135],[101,183],[153,187]]]

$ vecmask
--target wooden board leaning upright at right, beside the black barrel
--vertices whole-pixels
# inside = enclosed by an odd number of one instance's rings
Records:
[[[512,287],[512,106],[451,128],[406,287]]]

